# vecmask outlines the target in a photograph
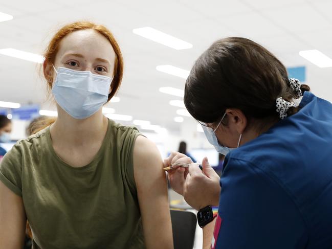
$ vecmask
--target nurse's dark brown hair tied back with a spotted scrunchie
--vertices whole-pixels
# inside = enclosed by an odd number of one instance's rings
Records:
[[[301,90],[309,90],[301,85]],[[249,119],[278,120],[276,99],[292,101],[285,66],[267,49],[240,37],[218,40],[195,62],[186,81],[184,102],[198,121],[218,121],[227,108]],[[295,107],[288,114],[294,114]]]

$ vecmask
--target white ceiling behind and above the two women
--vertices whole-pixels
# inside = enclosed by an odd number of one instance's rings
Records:
[[[298,55],[318,49],[332,57],[332,1],[330,0],[11,0],[0,3],[0,12],[13,20],[0,22],[0,49],[14,48],[41,54],[63,24],[88,19],[107,26],[116,36],[125,59],[125,76],[118,96],[110,104],[117,114],[150,120],[168,129],[179,129],[176,109],[168,102],[179,97],[162,94],[161,86],[184,88],[185,80],[156,70],[171,64],[190,70],[195,59],[218,38],[244,36],[275,53],[286,66],[307,66],[313,92],[332,101],[332,68],[321,69]],[[153,27],[193,44],[173,50],[132,33]],[[0,101],[45,102],[45,83],[38,64],[0,55]],[[190,118],[185,118],[190,119]]]

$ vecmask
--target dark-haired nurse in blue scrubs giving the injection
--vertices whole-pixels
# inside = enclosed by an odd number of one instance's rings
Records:
[[[197,59],[184,102],[226,155],[220,178],[207,159],[203,170],[168,172],[198,210],[203,248],[332,248],[330,102],[239,37],[214,42]],[[191,160],[173,152],[164,164],[175,162]]]

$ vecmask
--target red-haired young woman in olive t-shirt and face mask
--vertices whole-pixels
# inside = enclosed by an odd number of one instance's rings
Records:
[[[114,36],[75,22],[44,56],[58,118],[3,159],[0,247],[22,247],[28,219],[33,248],[172,248],[157,147],[102,114],[123,75]]]

